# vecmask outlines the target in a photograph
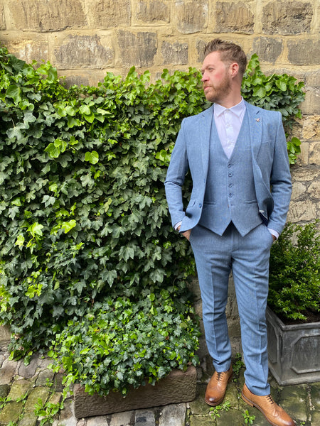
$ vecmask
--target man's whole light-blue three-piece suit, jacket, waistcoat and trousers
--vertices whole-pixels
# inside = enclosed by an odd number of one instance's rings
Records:
[[[289,209],[291,176],[281,114],[245,103],[245,117],[230,158],[215,128],[214,105],[183,119],[166,175],[173,226],[191,229],[203,302],[208,351],[216,371],[227,371],[231,347],[225,317],[233,271],[240,315],[245,381],[267,395],[267,305],[272,235],[281,233]],[[191,199],[183,207],[190,170]]]

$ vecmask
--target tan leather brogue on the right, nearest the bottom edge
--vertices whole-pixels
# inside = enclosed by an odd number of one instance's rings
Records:
[[[265,416],[272,426],[295,426],[296,423],[287,413],[279,407],[271,395],[258,396],[249,391],[247,385],[242,389],[242,400],[251,407],[256,407]]]

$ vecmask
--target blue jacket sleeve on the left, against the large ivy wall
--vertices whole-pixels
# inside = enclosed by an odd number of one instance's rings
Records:
[[[183,217],[186,216],[186,213],[183,211],[182,200],[182,185],[188,172],[188,156],[184,130],[185,121],[183,119],[174,150],[171,153],[166,181],[164,182],[172,226],[181,222]]]

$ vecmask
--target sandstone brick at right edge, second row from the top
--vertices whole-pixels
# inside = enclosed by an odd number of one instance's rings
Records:
[[[318,65],[320,40],[289,40],[288,59],[294,65]]]

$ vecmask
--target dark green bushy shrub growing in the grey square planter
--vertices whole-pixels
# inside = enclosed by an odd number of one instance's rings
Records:
[[[272,246],[268,305],[284,320],[307,320],[320,312],[318,222],[287,224]]]

